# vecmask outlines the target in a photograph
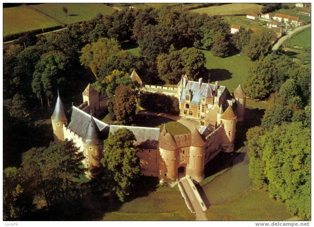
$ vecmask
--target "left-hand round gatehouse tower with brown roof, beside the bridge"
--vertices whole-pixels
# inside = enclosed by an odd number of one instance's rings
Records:
[[[163,182],[176,181],[178,177],[177,165],[179,159],[177,157],[178,148],[176,141],[170,132],[164,129],[160,133],[159,146],[159,179]]]

